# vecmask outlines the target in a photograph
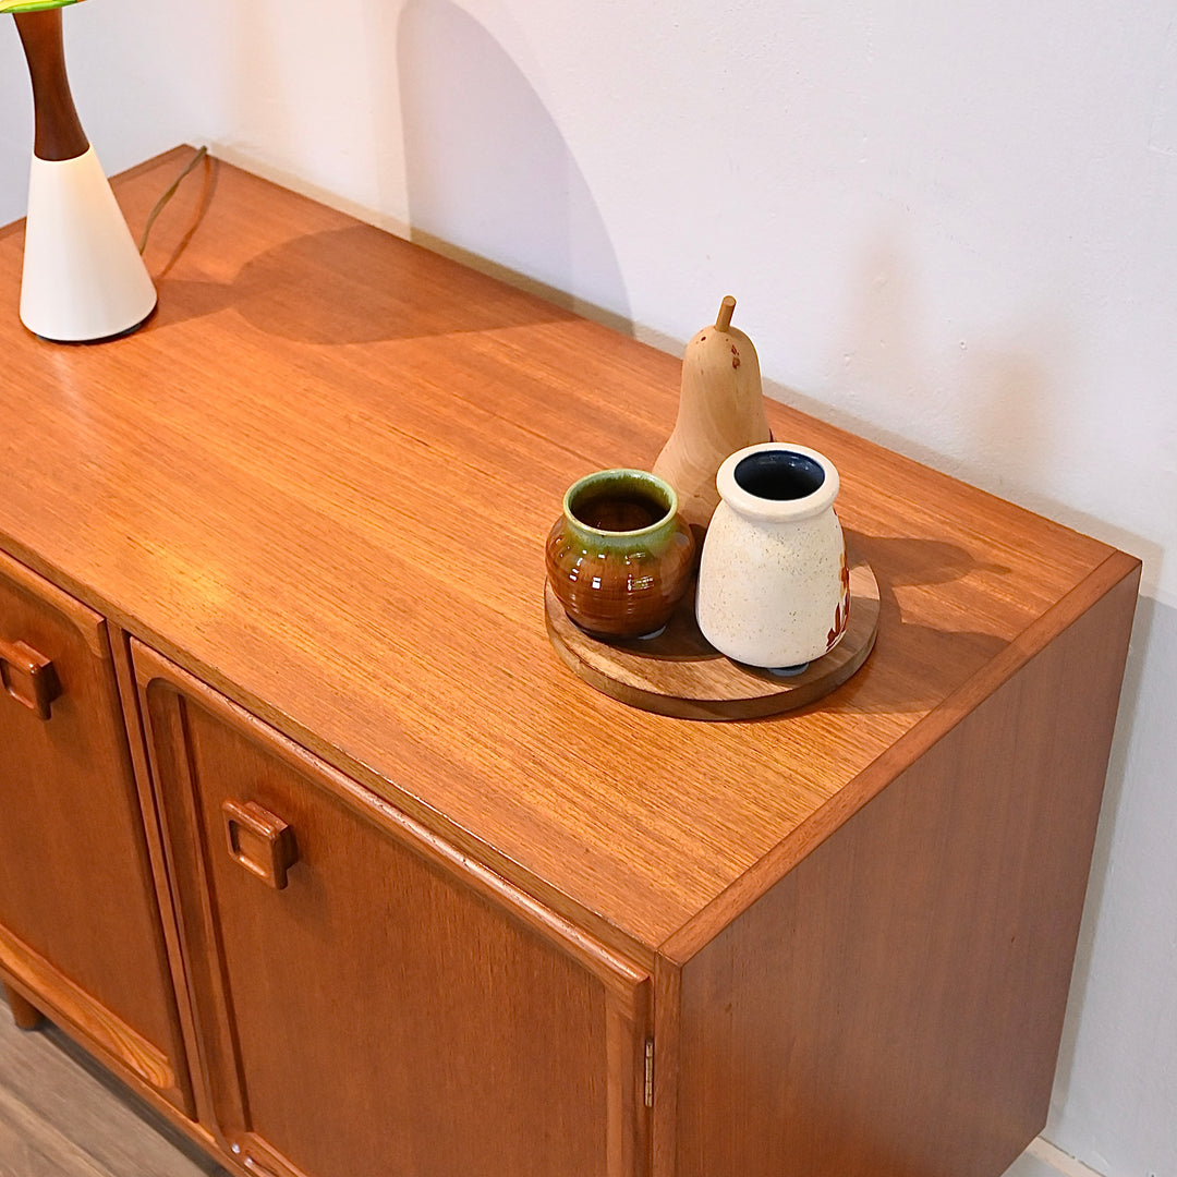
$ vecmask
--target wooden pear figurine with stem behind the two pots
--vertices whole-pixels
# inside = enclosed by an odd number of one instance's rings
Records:
[[[723,460],[772,439],[764,415],[760,361],[752,340],[731,325],[734,310],[736,299],[729,294],[714,326],[704,327],[686,345],[678,420],[653,467],[674,487],[678,508],[696,538],[719,505],[716,473]]]

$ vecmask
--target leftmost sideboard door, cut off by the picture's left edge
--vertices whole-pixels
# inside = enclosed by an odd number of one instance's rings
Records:
[[[187,1110],[106,624],[4,556],[0,976]]]

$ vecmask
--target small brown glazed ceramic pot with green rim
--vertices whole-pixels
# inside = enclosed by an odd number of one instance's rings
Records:
[[[691,583],[694,540],[669,483],[641,470],[599,470],[564,496],[546,565],[557,600],[583,630],[653,637]]]

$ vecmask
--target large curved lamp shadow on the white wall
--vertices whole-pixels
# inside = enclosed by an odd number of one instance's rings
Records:
[[[408,0],[397,45],[412,239],[632,333],[600,211],[503,46],[450,0]]]

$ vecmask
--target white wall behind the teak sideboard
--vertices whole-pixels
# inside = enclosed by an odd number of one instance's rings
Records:
[[[66,24],[111,171],[210,142],[672,350],[733,293],[773,394],[1145,559],[1046,1135],[1177,1173],[1177,4],[101,0]],[[0,220],[25,89],[6,32]]]

